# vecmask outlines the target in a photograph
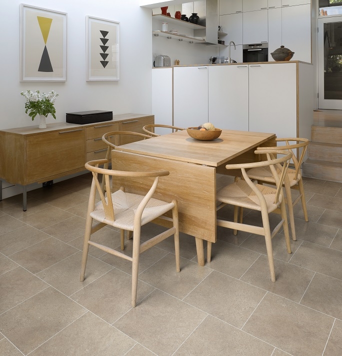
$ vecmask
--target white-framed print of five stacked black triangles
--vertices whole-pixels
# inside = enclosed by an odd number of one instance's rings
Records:
[[[86,80],[119,80],[119,22],[86,16]]]

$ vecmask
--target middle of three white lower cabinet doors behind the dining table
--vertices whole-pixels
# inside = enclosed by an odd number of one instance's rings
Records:
[[[218,128],[248,131],[248,65],[210,66],[208,74],[209,121]]]

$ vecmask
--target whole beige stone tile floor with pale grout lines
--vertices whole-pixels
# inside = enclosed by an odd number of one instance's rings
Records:
[[[90,246],[79,281],[89,187],[85,174],[30,191],[25,212],[20,195],[0,201],[1,356],[342,354],[342,183],[305,179],[309,222],[296,205],[291,254],[274,237],[275,283],[262,237],[218,228],[200,267],[181,234],[179,273],[172,237],[141,255],[135,308],[126,260]],[[112,228],[94,238],[119,246]]]

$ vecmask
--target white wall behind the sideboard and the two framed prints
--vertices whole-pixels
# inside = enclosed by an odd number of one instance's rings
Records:
[[[2,0],[0,21],[0,129],[37,125],[25,114],[26,89],[54,89],[56,121],[66,112],[112,110],[151,113],[151,9],[139,0],[30,0],[25,3],[67,13],[67,79],[65,82],[19,81],[19,4]],[[120,22],[120,80],[85,81],[85,16]],[[47,123],[54,122],[48,115]]]

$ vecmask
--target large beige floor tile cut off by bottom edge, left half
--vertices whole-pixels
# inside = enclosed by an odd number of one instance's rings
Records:
[[[30,356],[123,356],[134,344],[130,337],[87,312]]]

